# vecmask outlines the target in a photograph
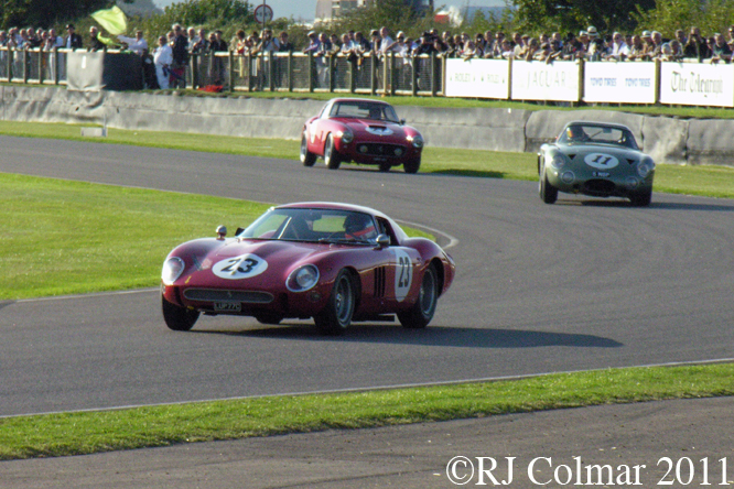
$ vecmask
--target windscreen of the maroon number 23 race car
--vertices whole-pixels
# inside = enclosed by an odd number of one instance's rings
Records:
[[[270,209],[237,235],[246,239],[374,243],[377,228],[365,213],[343,209]]]

